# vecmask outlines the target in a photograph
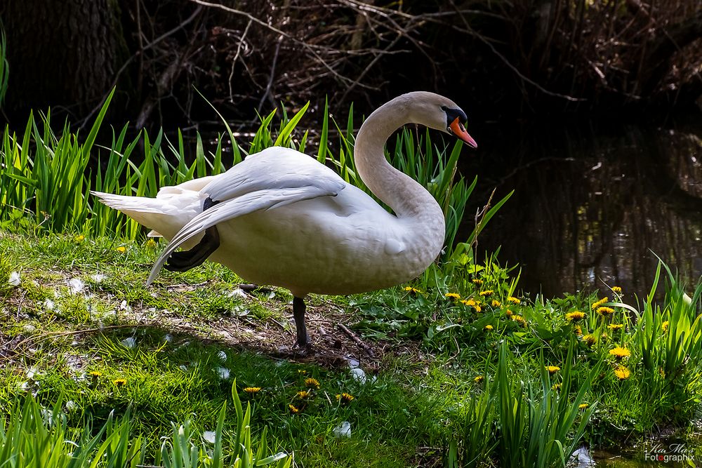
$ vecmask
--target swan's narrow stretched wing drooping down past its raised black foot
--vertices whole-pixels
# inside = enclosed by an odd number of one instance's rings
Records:
[[[307,182],[309,184],[310,181],[308,180]],[[341,179],[314,180],[312,182],[314,182],[314,185],[307,185],[306,187],[264,189],[246,193],[236,198],[225,200],[199,213],[183,226],[183,229],[180,229],[176,236],[171,239],[171,242],[168,243],[166,250],[161,253],[161,256],[159,256],[151,269],[151,274],[146,282],[147,286],[154,281],[166,260],[176,248],[193,236],[204,232],[208,227],[258,210],[270,210],[271,208],[289,205],[297,201],[315,199],[319,196],[336,196],[345,187],[345,182]]]

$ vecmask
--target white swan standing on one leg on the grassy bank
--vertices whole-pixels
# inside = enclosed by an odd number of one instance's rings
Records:
[[[304,346],[307,293],[395,286],[437,258],[444,213],[424,187],[388,163],[383,146],[400,126],[420,123],[477,147],[465,120],[451,100],[414,92],[386,103],[363,123],[355,143],[357,171],[394,215],[330,168],[282,147],[251,154],[223,174],[163,187],[155,199],[93,194],[170,240],[147,284],[164,264],[185,271],[208,259],[246,281],[288,288],[297,342]],[[190,250],[175,252],[178,247]]]

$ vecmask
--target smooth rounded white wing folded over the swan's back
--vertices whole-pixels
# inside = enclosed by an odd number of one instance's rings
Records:
[[[202,187],[202,199],[220,202],[244,194],[270,189],[292,189],[310,185],[337,187],[345,182],[316,159],[290,148],[272,147],[251,156],[216,176]],[[340,188],[335,188],[338,191]]]

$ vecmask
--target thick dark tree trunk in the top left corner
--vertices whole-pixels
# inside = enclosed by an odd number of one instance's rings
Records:
[[[10,69],[3,110],[18,123],[49,106],[85,116],[126,60],[115,0],[4,0],[0,19]]]

